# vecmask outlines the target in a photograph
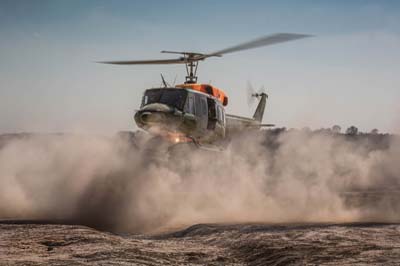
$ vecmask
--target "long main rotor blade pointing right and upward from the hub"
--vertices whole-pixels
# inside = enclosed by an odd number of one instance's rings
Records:
[[[223,50],[219,50],[219,51],[216,51],[216,52],[213,52],[210,54],[206,54],[205,58],[210,57],[210,56],[221,56],[223,54],[253,49],[253,48],[272,45],[272,44],[281,43],[281,42],[293,41],[293,40],[307,38],[307,37],[311,37],[311,36],[312,35],[296,34],[296,33],[276,33],[276,34],[272,34],[272,35],[268,35],[268,36],[264,36],[264,37],[255,39],[253,41],[249,41],[249,42],[245,42],[245,43],[235,45],[235,46],[232,46],[229,48],[225,48]]]

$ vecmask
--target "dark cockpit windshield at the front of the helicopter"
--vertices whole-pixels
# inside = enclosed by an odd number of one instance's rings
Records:
[[[187,92],[183,89],[149,89],[144,93],[142,107],[151,103],[163,103],[178,110],[183,110],[186,96]]]

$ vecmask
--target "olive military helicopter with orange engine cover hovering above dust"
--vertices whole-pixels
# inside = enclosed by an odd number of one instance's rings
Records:
[[[264,92],[252,94],[252,97],[259,99],[253,117],[226,114],[225,107],[228,105],[226,93],[213,85],[197,83],[199,62],[210,57],[222,57],[228,53],[310,36],[276,33],[212,53],[161,51],[161,53],[179,54],[180,56],[173,59],[102,61],[98,63],[116,65],[184,64],[187,73],[185,82],[170,86],[161,75],[164,86],[144,91],[140,109],[135,113],[134,119],[139,128],[161,136],[171,143],[192,142],[201,146],[227,139],[237,131],[274,125],[262,123],[268,98]]]

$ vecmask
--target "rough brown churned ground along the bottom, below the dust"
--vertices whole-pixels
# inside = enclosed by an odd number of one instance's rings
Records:
[[[2,221],[0,265],[400,265],[400,224],[198,224],[152,235]]]

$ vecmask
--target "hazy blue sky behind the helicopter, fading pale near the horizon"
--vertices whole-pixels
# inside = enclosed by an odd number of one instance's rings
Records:
[[[228,112],[251,115],[246,83],[270,94],[264,122],[400,133],[400,1],[0,1],[0,132],[134,130],[143,90],[182,66],[114,59],[207,52],[276,32],[315,35],[202,62]]]

